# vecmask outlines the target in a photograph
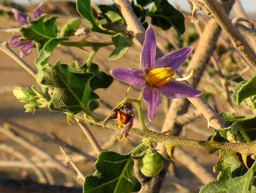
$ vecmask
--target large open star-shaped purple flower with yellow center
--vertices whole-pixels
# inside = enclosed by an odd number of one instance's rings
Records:
[[[142,88],[142,97],[148,105],[148,117],[151,121],[162,102],[160,93],[171,99],[194,98],[202,94],[201,91],[180,83],[187,78],[172,78],[174,71],[182,65],[192,51],[193,48],[188,46],[156,60],[156,37],[153,29],[149,27],[145,33],[141,51],[143,70],[115,68],[110,73],[116,79]]]

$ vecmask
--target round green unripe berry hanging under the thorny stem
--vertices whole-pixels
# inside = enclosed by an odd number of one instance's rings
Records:
[[[163,159],[155,150],[147,149],[142,153],[138,166],[143,175],[153,177],[163,168]]]

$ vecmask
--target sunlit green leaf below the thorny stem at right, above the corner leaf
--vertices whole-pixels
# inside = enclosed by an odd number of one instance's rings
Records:
[[[241,162],[234,158],[234,155],[231,152],[219,150],[218,153],[220,154],[220,160],[213,168],[215,173],[220,172],[217,176],[217,180],[230,180],[245,174],[247,169]]]

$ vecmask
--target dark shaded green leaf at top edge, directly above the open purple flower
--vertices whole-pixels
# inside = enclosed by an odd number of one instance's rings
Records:
[[[147,13],[151,17],[152,25],[158,26],[163,30],[170,29],[172,26],[178,36],[185,32],[184,16],[175,9],[167,0],[153,1],[153,6]]]

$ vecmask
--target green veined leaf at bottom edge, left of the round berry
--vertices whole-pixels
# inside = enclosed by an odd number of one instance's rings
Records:
[[[112,151],[103,151],[94,164],[94,174],[86,176],[83,193],[128,193],[139,191],[140,182],[133,175],[133,159]]]

